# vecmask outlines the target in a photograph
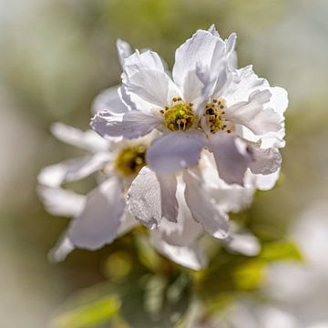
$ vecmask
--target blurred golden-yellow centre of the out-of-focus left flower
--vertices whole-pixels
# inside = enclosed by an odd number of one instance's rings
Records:
[[[132,177],[146,165],[146,150],[144,145],[131,146],[122,149],[115,161],[115,169],[123,177]]]

